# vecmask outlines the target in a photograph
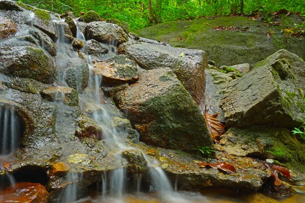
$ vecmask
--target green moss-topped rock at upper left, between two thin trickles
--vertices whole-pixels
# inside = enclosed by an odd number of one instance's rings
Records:
[[[35,13],[33,26],[46,33],[53,41],[55,41],[57,38],[56,28],[51,22],[50,12],[37,8],[35,8],[33,12]]]

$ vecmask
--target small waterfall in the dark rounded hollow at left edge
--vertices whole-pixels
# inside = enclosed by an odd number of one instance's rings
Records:
[[[9,155],[19,146],[22,121],[13,108],[0,107],[0,155]]]

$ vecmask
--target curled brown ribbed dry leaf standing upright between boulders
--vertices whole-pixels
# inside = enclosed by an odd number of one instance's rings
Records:
[[[207,110],[205,108],[204,118],[207,124],[207,129],[210,133],[210,136],[212,140],[215,143],[220,142],[220,136],[225,130],[226,125],[219,122],[219,120],[216,118],[218,114],[210,115],[207,113]]]

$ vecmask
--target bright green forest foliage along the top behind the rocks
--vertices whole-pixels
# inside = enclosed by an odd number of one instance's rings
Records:
[[[168,21],[200,17],[246,15],[268,18],[288,10],[305,17],[305,0],[21,0],[20,2],[59,14],[96,11],[105,19],[126,22],[131,31]],[[304,24],[304,23],[303,23]],[[305,26],[305,25],[304,25]]]

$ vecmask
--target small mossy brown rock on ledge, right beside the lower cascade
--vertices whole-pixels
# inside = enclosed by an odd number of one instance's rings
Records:
[[[147,170],[147,161],[140,150],[127,149],[122,153],[127,160],[127,170],[132,174],[144,174]]]

